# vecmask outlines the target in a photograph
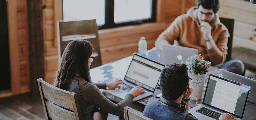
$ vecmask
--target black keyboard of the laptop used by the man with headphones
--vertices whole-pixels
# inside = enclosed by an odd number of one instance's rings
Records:
[[[196,112],[204,114],[204,115],[214,118],[216,120],[218,120],[220,118],[220,116],[222,115],[221,113],[215,112],[215,111],[210,110],[205,107],[202,107],[202,108],[196,110]]]

